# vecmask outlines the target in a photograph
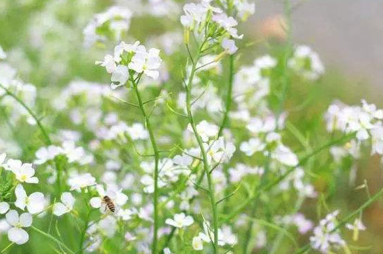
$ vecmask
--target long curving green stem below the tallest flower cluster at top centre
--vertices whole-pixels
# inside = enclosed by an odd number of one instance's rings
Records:
[[[205,147],[203,146],[203,141],[201,136],[197,132],[196,122],[194,121],[193,113],[192,113],[192,84],[194,79],[194,74],[196,73],[196,64],[198,63],[198,59],[201,54],[201,50],[205,45],[206,40],[201,44],[201,47],[198,49],[198,54],[196,58],[194,58],[194,63],[192,65],[192,71],[190,72],[189,82],[185,86],[186,89],[186,109],[187,116],[189,118],[190,125],[192,126],[194,136],[196,137],[199,148],[201,149],[202,159],[203,159],[203,170],[205,171],[205,175],[208,179],[208,189],[210,196],[210,203],[212,206],[212,216],[213,216],[213,228],[214,228],[214,254],[218,253],[218,214],[217,214],[217,204],[215,203],[214,197],[214,184],[212,182],[212,175],[210,174],[210,167],[208,163],[208,155],[206,154]]]

